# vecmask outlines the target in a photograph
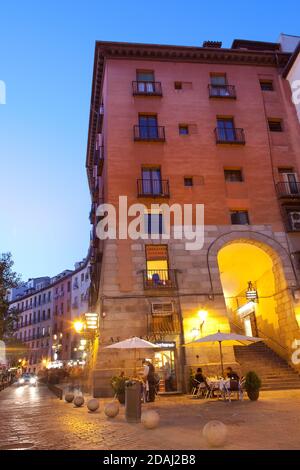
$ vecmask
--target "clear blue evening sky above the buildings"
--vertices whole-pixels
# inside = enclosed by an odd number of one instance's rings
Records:
[[[300,34],[298,0],[2,2],[0,252],[23,279],[55,275],[87,253],[85,173],[95,40],[201,45]]]

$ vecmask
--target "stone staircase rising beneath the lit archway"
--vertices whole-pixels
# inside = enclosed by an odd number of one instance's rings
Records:
[[[300,389],[300,375],[265,343],[234,346],[242,374],[254,370],[262,381],[261,390]]]

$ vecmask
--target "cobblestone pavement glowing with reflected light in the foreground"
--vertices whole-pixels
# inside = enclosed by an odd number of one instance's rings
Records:
[[[143,405],[161,416],[146,430],[127,424],[124,407],[115,419],[58,400],[45,386],[10,387],[0,392],[2,449],[205,449],[202,428],[223,421],[229,430],[225,449],[299,449],[300,390],[263,392],[258,402],[159,397]]]

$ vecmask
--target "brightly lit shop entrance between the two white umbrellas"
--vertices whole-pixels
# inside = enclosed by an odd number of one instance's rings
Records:
[[[159,393],[174,393],[178,390],[178,359],[175,341],[155,343],[155,372],[160,376]]]

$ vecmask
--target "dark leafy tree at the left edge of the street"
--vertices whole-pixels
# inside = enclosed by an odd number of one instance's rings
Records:
[[[8,312],[8,291],[20,284],[20,276],[13,271],[13,265],[11,253],[0,255],[0,340],[12,337],[14,324],[19,316],[17,309]]]

